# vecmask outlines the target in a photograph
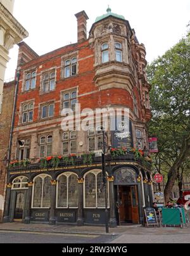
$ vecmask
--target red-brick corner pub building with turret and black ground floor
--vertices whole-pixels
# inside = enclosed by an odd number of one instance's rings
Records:
[[[138,150],[148,151],[146,123],[151,118],[144,45],[124,16],[110,8],[96,18],[89,38],[87,14],[81,11],[75,16],[75,44],[42,56],[25,42],[18,44],[4,222],[105,224],[102,131],[61,129],[61,110],[75,110],[76,103],[81,110],[108,106],[130,110],[130,136],[122,146],[135,152],[108,152],[105,157],[110,227],[142,223],[143,207],[153,202],[150,164],[146,157],[136,157]],[[108,131],[106,139],[112,148],[120,146],[114,132]]]

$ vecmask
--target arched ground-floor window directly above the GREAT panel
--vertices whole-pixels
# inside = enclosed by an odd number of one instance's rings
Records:
[[[35,177],[32,191],[32,208],[50,208],[51,177],[46,174]]]

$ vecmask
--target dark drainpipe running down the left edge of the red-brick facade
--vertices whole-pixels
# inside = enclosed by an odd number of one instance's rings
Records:
[[[12,140],[13,140],[13,128],[15,125],[15,110],[16,110],[16,101],[17,101],[17,94],[18,94],[18,82],[20,79],[20,72],[16,72],[16,88],[15,88],[15,96],[14,96],[14,101],[13,101],[13,114],[12,114],[12,120],[11,120],[11,130],[10,130],[10,136],[9,136],[9,147],[8,147],[8,163],[7,167],[10,162],[11,158],[11,146],[12,146]]]

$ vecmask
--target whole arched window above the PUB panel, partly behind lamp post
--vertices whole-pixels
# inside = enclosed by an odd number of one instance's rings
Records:
[[[103,186],[103,174],[101,170],[91,170],[84,177],[84,208],[105,208],[105,188]],[[107,181],[108,207],[109,183]]]

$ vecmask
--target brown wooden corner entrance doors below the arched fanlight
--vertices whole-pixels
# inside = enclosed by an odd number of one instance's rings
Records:
[[[139,224],[137,186],[118,186],[118,200],[120,224]]]

